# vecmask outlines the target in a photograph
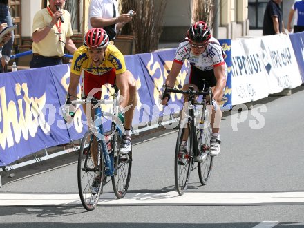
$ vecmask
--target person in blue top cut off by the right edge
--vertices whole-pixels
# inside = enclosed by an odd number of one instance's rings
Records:
[[[288,24],[287,30],[288,32],[292,32],[292,18],[294,17],[294,33],[303,32],[304,31],[304,1],[296,0],[290,9],[288,16]]]

